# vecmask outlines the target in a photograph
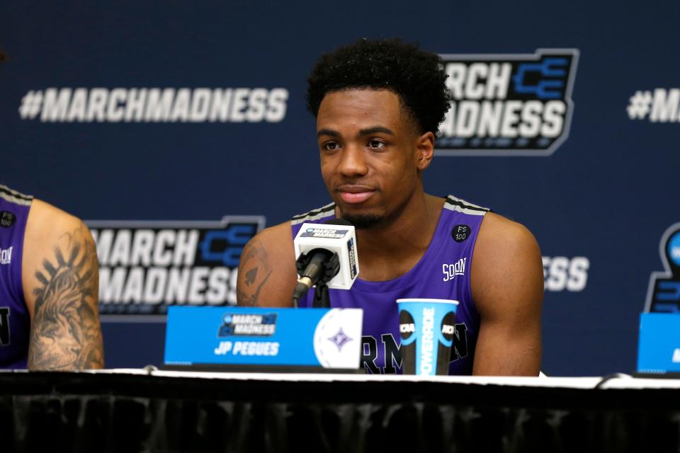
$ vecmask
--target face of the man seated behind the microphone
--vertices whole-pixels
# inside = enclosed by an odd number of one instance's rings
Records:
[[[328,93],[319,106],[317,141],[341,217],[357,228],[398,217],[421,188],[420,139],[392,91]]]

